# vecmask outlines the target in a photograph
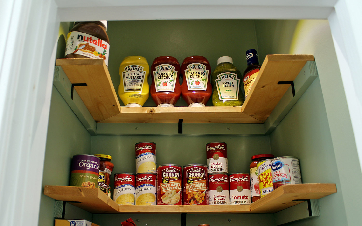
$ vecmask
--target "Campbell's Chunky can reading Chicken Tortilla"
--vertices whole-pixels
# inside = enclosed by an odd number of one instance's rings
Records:
[[[184,166],[184,205],[209,205],[207,166]]]

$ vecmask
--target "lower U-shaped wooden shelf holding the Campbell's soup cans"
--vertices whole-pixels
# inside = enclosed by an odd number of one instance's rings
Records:
[[[142,214],[231,214],[275,213],[303,201],[320,199],[336,193],[336,184],[292,184],[281,186],[251,205],[186,205],[186,206],[122,206],[105,195],[100,189],[50,186],[44,194],[60,201],[71,201],[91,213],[142,213]]]

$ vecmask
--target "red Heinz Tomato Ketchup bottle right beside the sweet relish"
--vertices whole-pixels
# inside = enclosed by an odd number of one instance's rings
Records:
[[[189,56],[181,65],[183,82],[181,95],[189,107],[205,107],[212,91],[210,82],[211,67],[203,56]]]

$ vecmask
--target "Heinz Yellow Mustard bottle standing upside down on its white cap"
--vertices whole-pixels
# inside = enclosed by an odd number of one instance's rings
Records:
[[[143,56],[127,56],[123,59],[119,66],[121,82],[118,94],[126,107],[142,107],[147,101],[150,93],[149,75],[150,68]]]

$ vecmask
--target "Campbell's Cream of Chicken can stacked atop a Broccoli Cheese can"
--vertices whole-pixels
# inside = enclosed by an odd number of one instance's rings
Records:
[[[139,142],[136,147],[136,174],[143,172],[156,173],[156,144]]]

